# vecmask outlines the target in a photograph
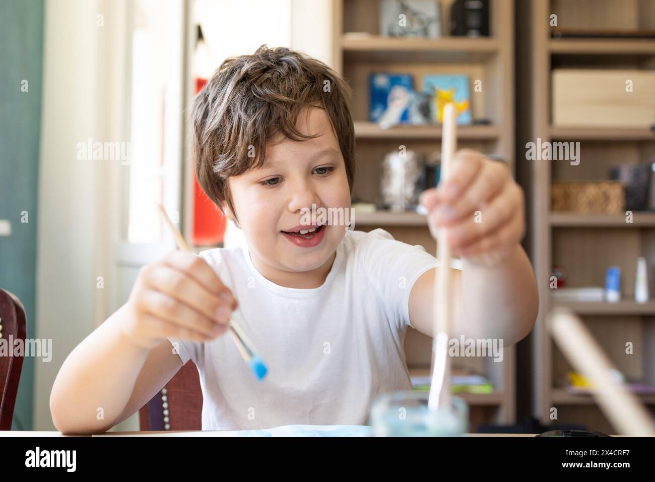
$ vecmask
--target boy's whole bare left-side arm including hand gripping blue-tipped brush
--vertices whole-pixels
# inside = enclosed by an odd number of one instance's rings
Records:
[[[166,338],[214,340],[234,309],[231,291],[196,254],[172,251],[141,268],[128,302],[84,338],[54,380],[56,428],[100,433],[136,412],[182,365]]]

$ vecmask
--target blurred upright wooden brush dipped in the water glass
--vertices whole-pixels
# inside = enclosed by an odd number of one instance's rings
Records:
[[[443,133],[441,138],[441,171],[439,184],[448,179],[450,165],[457,148],[457,113],[455,106],[448,103],[443,108]],[[450,265],[451,250],[448,245],[447,230],[440,228],[437,233],[437,259],[435,270],[434,307],[432,325],[432,383],[428,407],[436,411],[439,407],[450,409],[451,405],[451,359],[448,355],[448,342],[452,333],[450,310]]]

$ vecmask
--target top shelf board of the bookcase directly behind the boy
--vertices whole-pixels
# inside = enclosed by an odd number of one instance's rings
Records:
[[[498,40],[493,37],[421,39],[346,34],[341,38],[341,48],[350,60],[367,62],[480,61],[498,52]]]

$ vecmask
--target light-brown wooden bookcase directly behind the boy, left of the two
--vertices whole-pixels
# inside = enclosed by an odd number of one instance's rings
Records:
[[[466,74],[470,82],[482,81],[482,91],[471,91],[474,119],[488,125],[458,126],[458,148],[500,155],[514,172],[514,2],[493,0],[490,37],[450,37],[446,28],[452,1],[441,1],[441,33],[438,39],[405,39],[379,35],[379,0],[335,0],[333,12],[333,65],[354,90],[350,112],[356,137],[354,195],[379,203],[380,172],[384,154],[400,145],[429,155],[441,150],[441,128],[399,126],[381,129],[369,119],[369,74],[410,73],[415,88],[428,73]],[[472,86],[471,86],[472,87]],[[415,212],[355,212],[355,228],[383,228],[405,243],[436,252],[436,242],[425,218]],[[410,373],[430,367],[431,339],[408,329],[405,339]],[[470,405],[471,424],[511,423],[515,420],[515,348],[504,350],[500,363],[491,359],[457,358],[454,365],[489,378],[496,391],[464,395]]]

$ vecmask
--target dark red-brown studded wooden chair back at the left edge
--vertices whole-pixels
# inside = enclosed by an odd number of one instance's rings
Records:
[[[25,346],[27,331],[23,304],[14,294],[0,289],[0,338],[6,340],[7,350],[13,350],[13,342],[19,339]],[[0,430],[11,430],[22,368],[22,355],[0,356]]]

